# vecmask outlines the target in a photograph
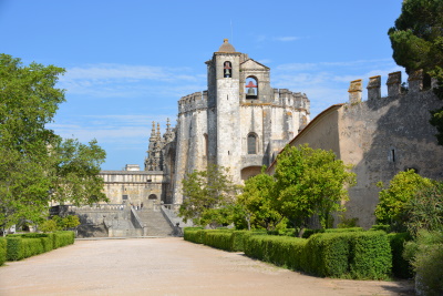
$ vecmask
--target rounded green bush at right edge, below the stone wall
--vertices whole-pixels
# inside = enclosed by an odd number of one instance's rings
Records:
[[[405,225],[415,235],[419,231],[443,231],[443,182],[419,191],[405,206]]]

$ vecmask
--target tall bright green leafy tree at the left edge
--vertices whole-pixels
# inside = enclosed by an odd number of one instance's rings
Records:
[[[48,146],[59,140],[45,129],[64,101],[54,85],[63,69],[0,54],[0,225],[39,220],[51,182]]]

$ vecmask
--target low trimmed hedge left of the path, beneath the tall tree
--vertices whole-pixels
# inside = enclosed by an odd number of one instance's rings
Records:
[[[74,232],[8,235],[6,238],[6,257],[8,261],[28,258],[58,247],[73,244],[74,237]]]

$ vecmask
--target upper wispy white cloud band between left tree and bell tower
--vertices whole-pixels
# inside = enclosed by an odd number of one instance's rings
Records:
[[[68,94],[94,98],[173,95],[178,100],[189,86],[194,88],[192,92],[195,88],[204,90],[205,78],[189,68],[93,64],[68,69],[59,86]]]

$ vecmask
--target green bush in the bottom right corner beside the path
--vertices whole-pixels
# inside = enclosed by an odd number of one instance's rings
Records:
[[[415,289],[422,295],[443,295],[443,232],[420,231],[405,245],[404,257],[415,272]]]

